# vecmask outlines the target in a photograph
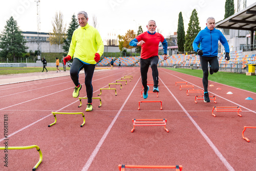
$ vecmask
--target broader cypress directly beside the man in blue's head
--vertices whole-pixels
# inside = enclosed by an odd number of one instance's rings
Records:
[[[199,19],[197,16],[197,11],[196,9],[194,9],[190,16],[190,20],[187,28],[187,34],[185,36],[185,47],[184,47],[185,52],[194,51],[192,44],[200,30],[201,30],[201,27],[199,27]]]

